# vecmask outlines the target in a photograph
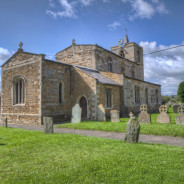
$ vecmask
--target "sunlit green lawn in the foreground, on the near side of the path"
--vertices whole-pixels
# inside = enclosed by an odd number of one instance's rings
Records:
[[[184,183],[184,148],[0,127],[0,183]]]

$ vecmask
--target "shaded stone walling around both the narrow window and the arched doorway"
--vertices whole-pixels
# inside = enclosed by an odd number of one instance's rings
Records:
[[[59,82],[63,84],[63,100],[59,103]],[[71,119],[72,107],[84,96],[88,102],[88,118],[96,118],[96,80],[77,67],[45,61],[43,71],[43,115],[54,122]]]

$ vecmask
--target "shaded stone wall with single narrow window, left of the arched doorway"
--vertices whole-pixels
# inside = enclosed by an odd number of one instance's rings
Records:
[[[71,66],[45,60],[43,64],[43,116],[50,116],[56,121],[71,117]],[[62,84],[62,102],[59,103],[59,83]]]

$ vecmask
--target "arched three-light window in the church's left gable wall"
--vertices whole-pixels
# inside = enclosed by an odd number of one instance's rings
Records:
[[[13,80],[13,105],[25,102],[25,80],[18,76]]]

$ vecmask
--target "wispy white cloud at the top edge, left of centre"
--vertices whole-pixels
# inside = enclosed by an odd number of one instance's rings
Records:
[[[58,0],[61,7],[63,8],[63,11],[52,11],[52,10],[47,10],[46,13],[48,15],[53,16],[54,18],[57,17],[67,17],[67,18],[76,18],[77,15],[75,13],[75,2],[69,3],[68,0]]]

